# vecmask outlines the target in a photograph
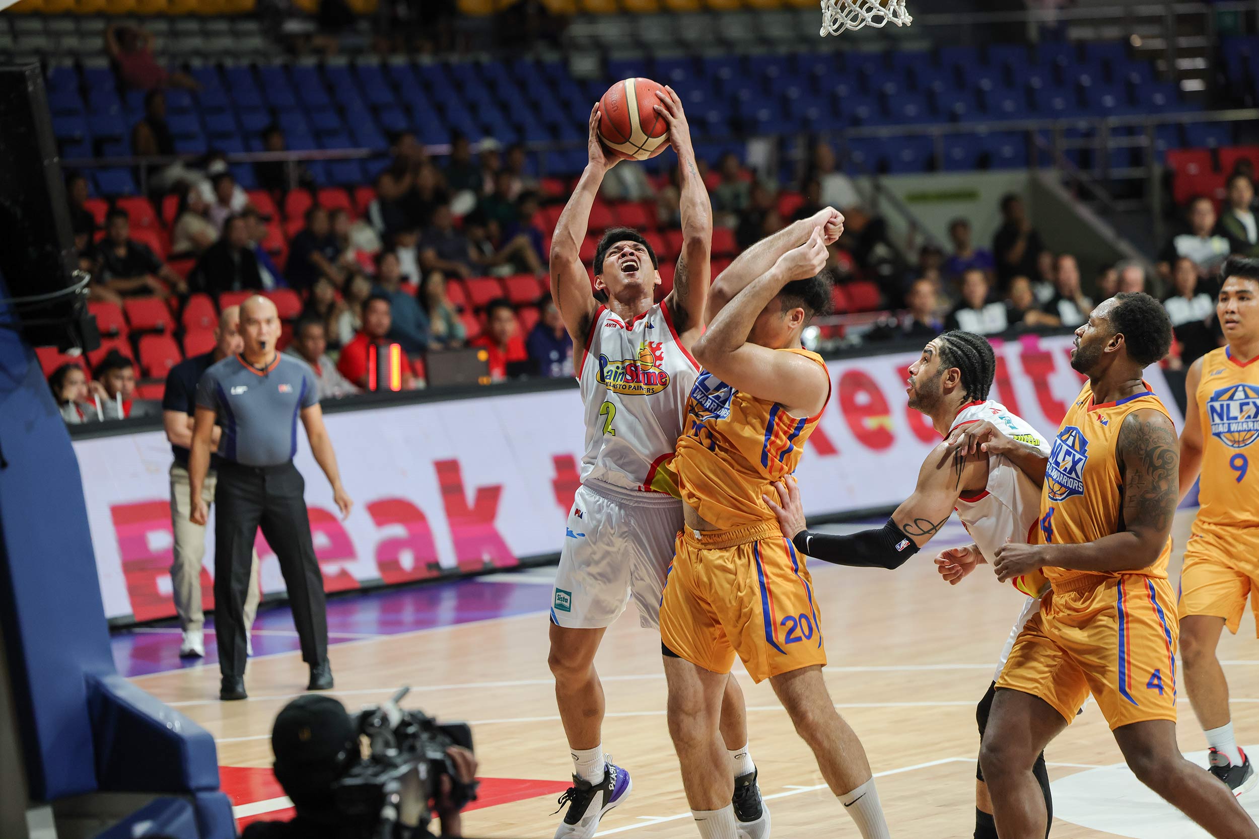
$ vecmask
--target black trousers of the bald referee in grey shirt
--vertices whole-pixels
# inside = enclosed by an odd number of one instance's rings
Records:
[[[324,576],[315,558],[306,512],[306,481],[297,467],[246,467],[223,462],[214,503],[214,631],[223,675],[243,677],[246,663],[244,600],[249,589],[253,541],[262,535],[279,560],[302,660],[327,659],[327,611]]]

